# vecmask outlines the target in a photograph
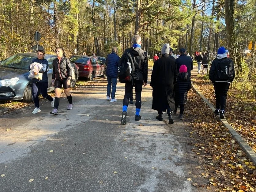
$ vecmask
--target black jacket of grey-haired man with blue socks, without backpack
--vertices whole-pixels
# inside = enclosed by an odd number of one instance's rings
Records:
[[[140,47],[128,48],[124,51],[129,52],[133,57],[135,71],[133,73],[133,78],[139,81],[148,82],[148,54],[143,51]]]

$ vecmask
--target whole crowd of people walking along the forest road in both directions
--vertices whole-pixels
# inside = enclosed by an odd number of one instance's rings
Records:
[[[113,47],[110,54],[107,55],[107,100],[115,102],[117,79],[121,66],[126,66],[129,77],[122,80],[125,82],[125,92],[122,102],[122,117],[121,124],[127,123],[127,109],[130,104],[133,104],[133,88],[135,87],[136,111],[135,121],[141,119],[141,92],[142,87],[147,86],[148,82],[148,58],[147,53],[141,48],[141,37],[134,35],[132,38],[133,46],[127,48],[122,57],[118,54],[118,48]],[[34,64],[42,65],[39,73],[43,73],[42,80],[32,78],[32,96],[35,102],[35,109],[32,114],[40,112],[38,96],[40,92],[44,98],[51,102],[54,108],[51,114],[58,114],[58,106],[63,86],[67,100],[69,102],[67,109],[73,108],[72,96],[70,94],[70,78],[72,76],[71,63],[65,56],[65,51],[62,47],[55,50],[57,58],[53,60],[52,86],[55,87],[55,97],[47,94],[47,68],[48,62],[44,59],[44,51],[38,50],[37,57],[33,60]],[[195,55],[195,57],[194,57]],[[183,119],[184,108],[187,100],[188,91],[191,88],[191,70],[193,70],[193,58],[198,63],[198,73],[200,73],[201,65],[203,65],[202,74],[208,68],[209,54],[196,51],[194,55],[187,54],[186,49],[179,49],[179,54],[175,55],[173,49],[168,43],[165,43],[161,49],[161,54],[158,52],[153,57],[154,65],[151,75],[150,86],[152,86],[152,109],[157,111],[156,119],[163,121],[163,112],[167,111],[169,124],[173,124],[172,114],[176,115],[178,107],[179,119]],[[124,62],[125,61],[125,62]],[[30,69],[29,69],[30,70]],[[213,82],[216,96],[215,115],[220,115],[221,119],[225,118],[226,97],[230,82],[235,77],[233,61],[228,58],[226,49],[220,47],[216,58],[211,64],[209,70],[209,79]],[[120,77],[119,77],[120,81]],[[121,81],[120,81],[121,82]]]

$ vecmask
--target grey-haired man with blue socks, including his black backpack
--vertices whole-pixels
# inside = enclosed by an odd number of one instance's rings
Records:
[[[122,107],[121,124],[126,124],[127,107],[133,87],[135,86],[136,113],[135,121],[141,119],[141,91],[142,86],[147,85],[148,81],[148,58],[147,53],[141,49],[141,36],[134,35],[132,38],[133,46],[124,51],[119,67],[118,78],[121,83],[125,83],[125,93]],[[126,71],[128,70],[128,74]]]

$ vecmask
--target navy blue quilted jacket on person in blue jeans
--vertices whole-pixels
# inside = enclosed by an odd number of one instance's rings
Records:
[[[117,68],[120,57],[112,52],[107,55],[107,69],[106,76],[111,78],[117,78]]]

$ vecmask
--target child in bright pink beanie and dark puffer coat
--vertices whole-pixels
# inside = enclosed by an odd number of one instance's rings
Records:
[[[179,119],[183,119],[184,105],[187,100],[187,92],[191,88],[191,81],[188,78],[187,67],[182,65],[179,68],[179,73],[177,76],[177,83],[174,85],[175,90],[175,111],[174,115],[177,113],[178,105],[180,106],[179,110]]]

